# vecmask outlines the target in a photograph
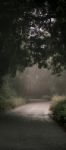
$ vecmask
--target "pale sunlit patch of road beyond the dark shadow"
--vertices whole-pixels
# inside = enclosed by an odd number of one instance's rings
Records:
[[[46,119],[48,118],[50,103],[49,102],[33,102],[24,106],[18,107],[11,111],[23,117],[31,119]],[[48,118],[49,119],[49,118]]]

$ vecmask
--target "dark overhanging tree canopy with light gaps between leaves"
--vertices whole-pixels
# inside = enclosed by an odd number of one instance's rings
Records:
[[[65,0],[0,1],[0,81],[27,66],[66,69]]]

